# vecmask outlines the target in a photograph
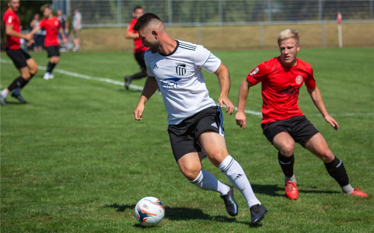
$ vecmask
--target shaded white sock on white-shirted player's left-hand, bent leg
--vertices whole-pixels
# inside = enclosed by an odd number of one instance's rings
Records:
[[[221,195],[226,195],[230,191],[229,186],[221,183],[209,171],[204,169],[201,169],[196,179],[188,181],[199,189],[219,192]]]

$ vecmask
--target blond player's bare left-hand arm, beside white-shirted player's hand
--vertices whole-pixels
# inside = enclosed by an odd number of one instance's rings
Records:
[[[244,113],[244,108],[245,108],[245,103],[248,97],[248,91],[251,86],[253,86],[253,84],[248,82],[247,79],[245,78],[240,83],[240,88],[239,88],[239,96],[237,100],[237,112],[235,114],[235,120],[236,120],[236,124],[239,125],[240,127],[243,127],[243,129],[245,129],[246,120],[247,120],[245,113]]]

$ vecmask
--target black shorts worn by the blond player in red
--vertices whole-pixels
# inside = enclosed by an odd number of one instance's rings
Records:
[[[266,138],[273,144],[275,135],[286,132],[305,148],[305,141],[319,131],[305,116],[295,116],[285,120],[261,124]]]

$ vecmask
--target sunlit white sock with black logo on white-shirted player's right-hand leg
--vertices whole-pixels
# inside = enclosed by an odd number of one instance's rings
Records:
[[[240,164],[234,160],[231,155],[227,156],[218,168],[225,173],[227,179],[237,188],[247,201],[248,208],[252,205],[260,204],[255,194],[253,193],[251,184],[245,175]]]

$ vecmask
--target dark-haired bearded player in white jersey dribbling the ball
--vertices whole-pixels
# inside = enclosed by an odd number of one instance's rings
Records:
[[[138,31],[142,44],[150,48],[144,55],[148,76],[134,110],[135,120],[142,120],[145,103],[159,88],[168,113],[172,151],[183,175],[197,188],[219,192],[227,212],[237,215],[232,186],[202,169],[204,151],[209,161],[242,193],[251,213],[251,224],[257,224],[267,210],[254,195],[240,164],[229,155],[224,138],[221,107],[225,104],[229,115],[234,111],[228,98],[229,70],[202,45],[173,40],[157,15],[144,14],[134,30]],[[209,97],[201,69],[217,75],[220,106]]]

